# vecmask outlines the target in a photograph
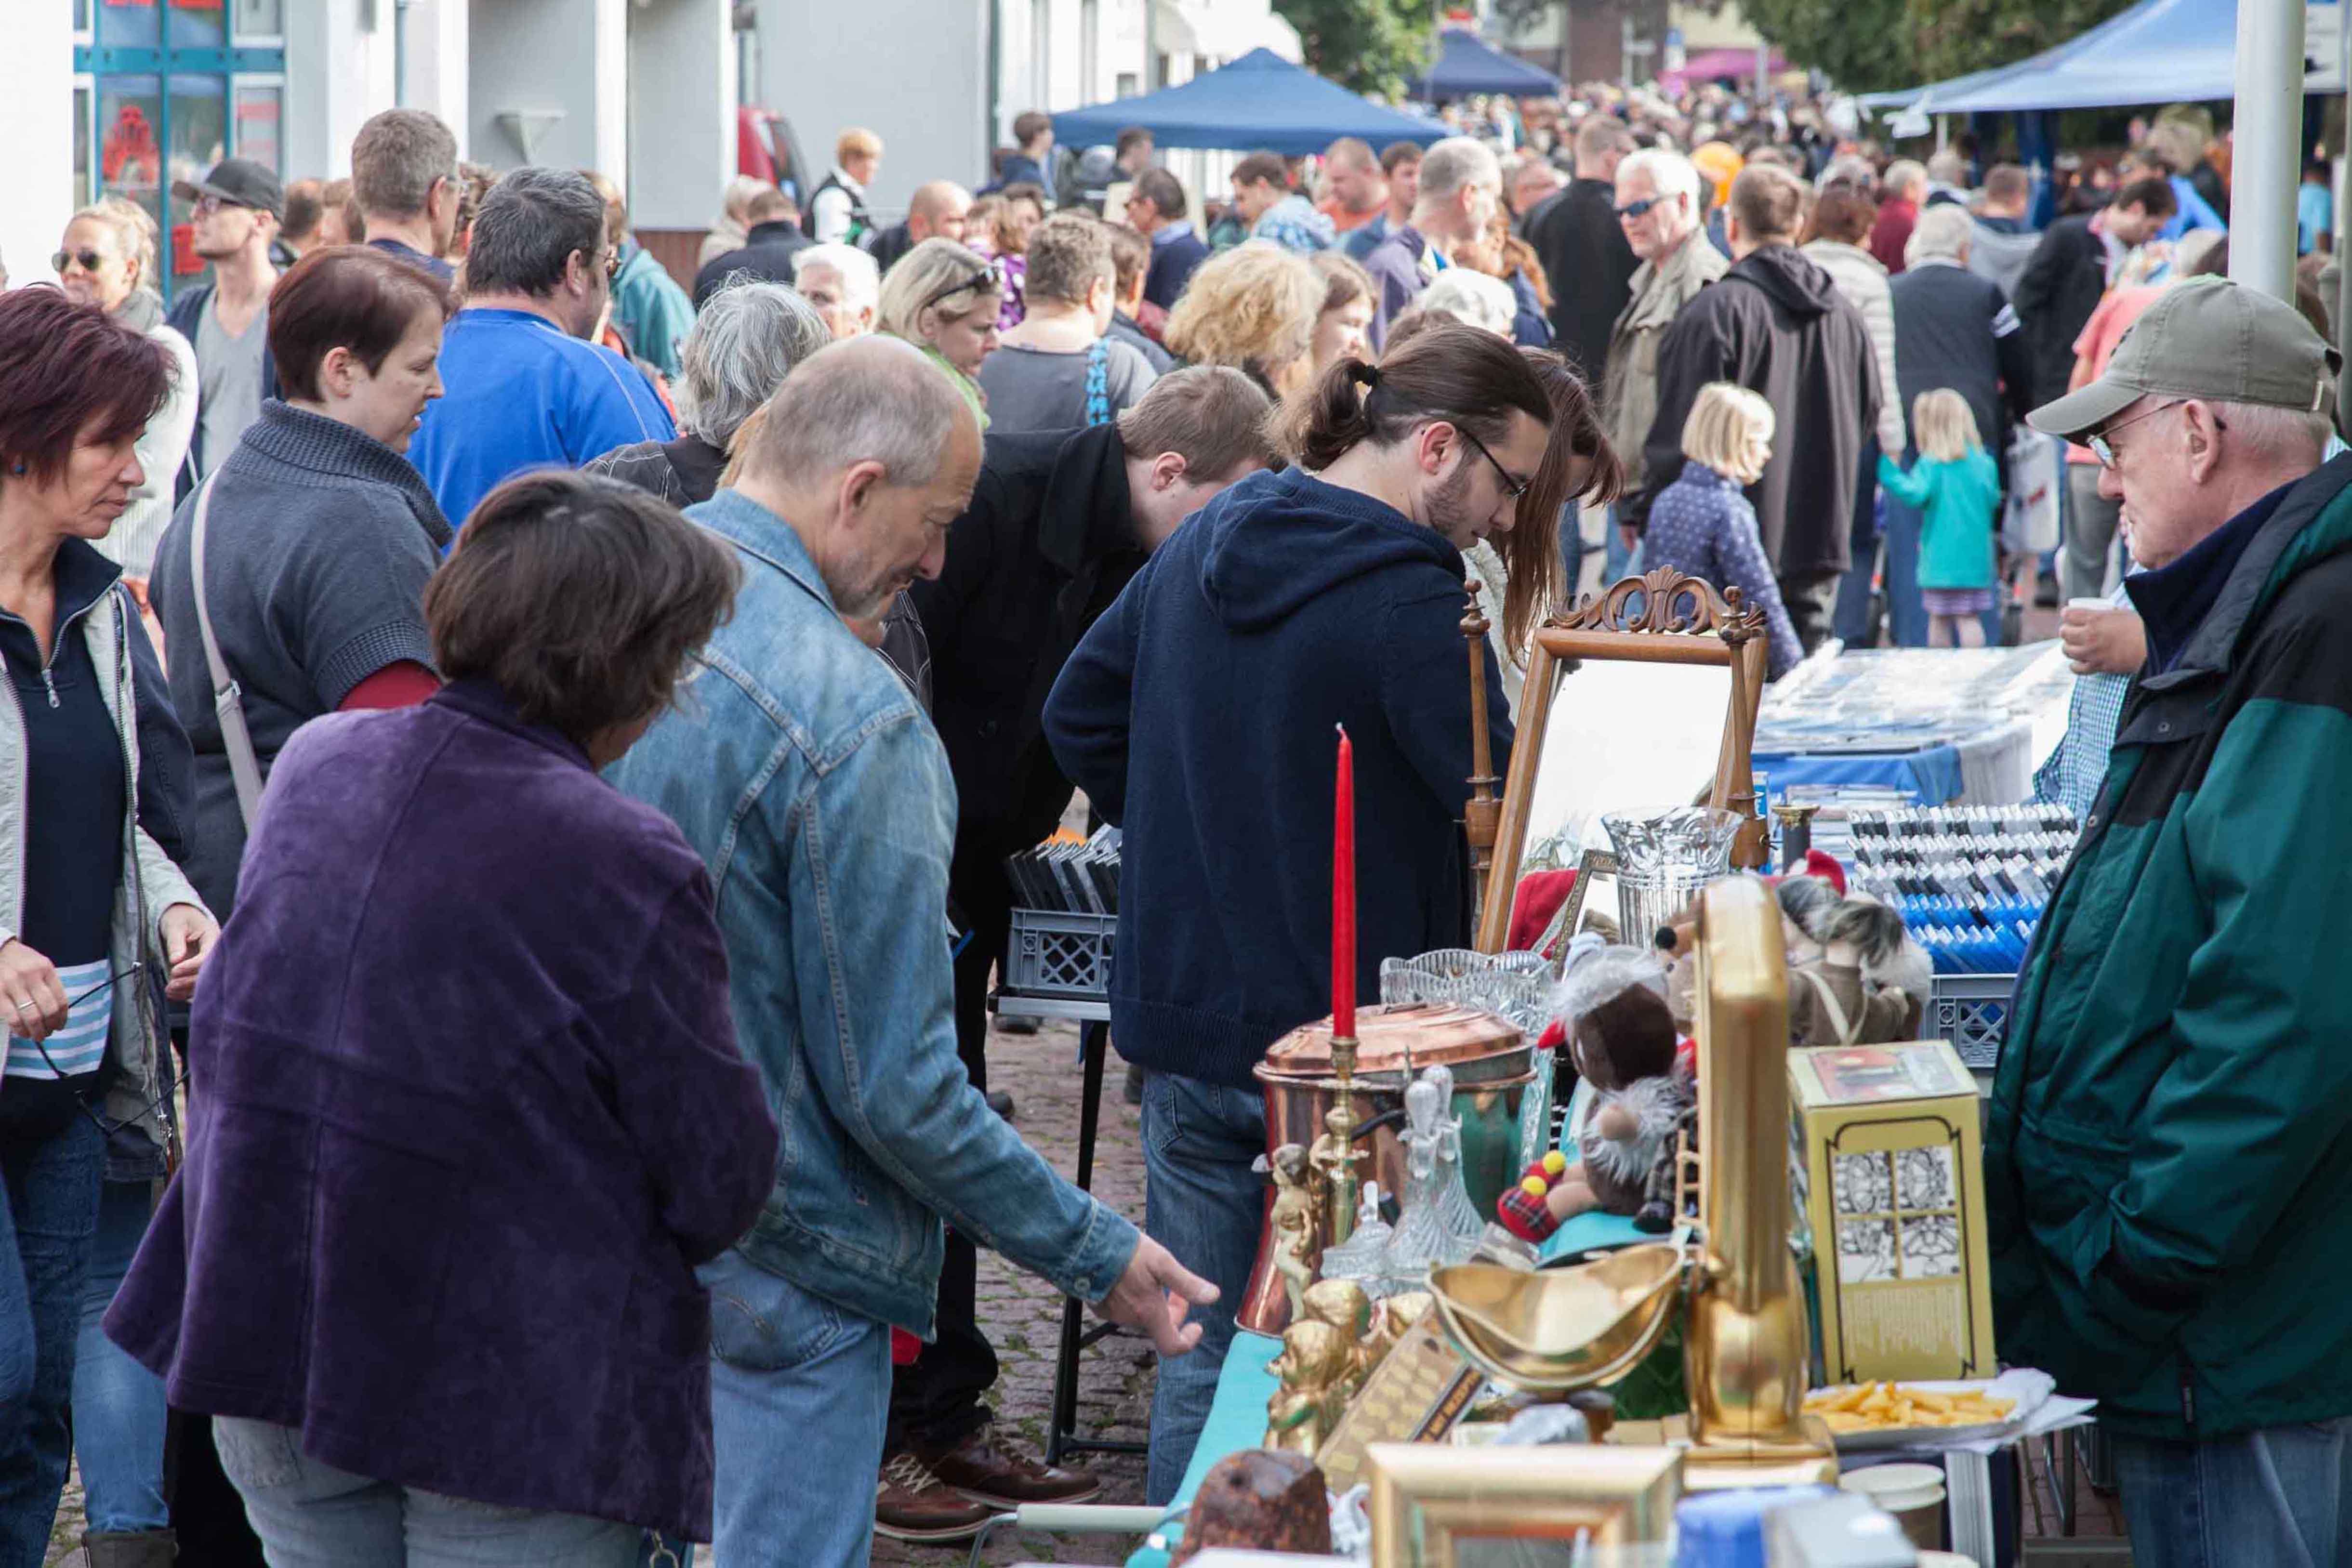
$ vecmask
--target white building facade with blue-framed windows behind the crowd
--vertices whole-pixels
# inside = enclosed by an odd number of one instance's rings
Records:
[[[49,275],[71,212],[125,195],[200,275],[174,179],[254,158],[350,172],[381,108],[440,115],[463,158],[595,167],[640,230],[701,230],[739,169],[739,106],[776,110],[823,176],[842,127],[882,136],[873,205],[985,183],[1025,108],[1183,82],[1298,38],[1268,0],[7,0],[0,263]]]

